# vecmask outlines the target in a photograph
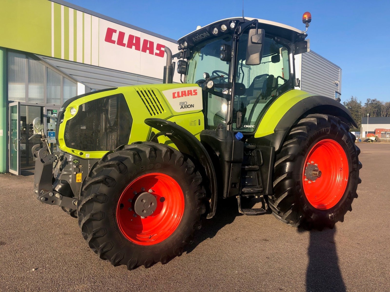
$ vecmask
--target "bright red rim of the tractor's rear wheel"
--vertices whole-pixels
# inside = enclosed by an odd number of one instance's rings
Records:
[[[322,173],[312,180],[308,171],[314,165]],[[309,151],[303,168],[303,191],[307,200],[317,209],[332,208],[344,195],[348,176],[347,155],[341,145],[332,139],[319,141]]]

